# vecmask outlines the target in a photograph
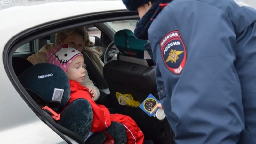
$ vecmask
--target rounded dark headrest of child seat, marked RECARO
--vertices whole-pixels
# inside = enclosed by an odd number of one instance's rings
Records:
[[[18,79],[39,105],[49,104],[60,110],[70,98],[70,85],[66,73],[58,66],[49,63],[36,64],[24,72]]]

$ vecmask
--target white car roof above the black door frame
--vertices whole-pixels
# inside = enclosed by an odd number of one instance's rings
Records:
[[[41,5],[17,6],[0,10],[0,36],[3,42],[9,41],[18,33],[54,20],[109,10],[125,10],[122,1],[68,1]],[[3,48],[2,48],[3,50]]]

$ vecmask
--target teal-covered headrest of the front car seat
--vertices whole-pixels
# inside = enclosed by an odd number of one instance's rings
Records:
[[[118,50],[124,56],[144,58],[146,40],[136,39],[133,32],[128,29],[119,30],[115,33],[114,42]]]

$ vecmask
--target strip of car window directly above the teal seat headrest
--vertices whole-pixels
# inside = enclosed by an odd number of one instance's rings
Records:
[[[124,28],[129,29],[131,31],[134,31],[137,22],[139,20],[121,20],[121,21],[112,21],[112,22],[107,22],[107,24],[115,31],[122,30]]]

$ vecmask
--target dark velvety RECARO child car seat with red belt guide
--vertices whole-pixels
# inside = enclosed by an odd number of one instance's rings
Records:
[[[92,126],[92,107],[85,99],[77,99],[64,107],[70,98],[70,85],[65,72],[58,66],[40,63],[28,68],[18,76],[30,96],[36,101],[45,117],[58,131],[78,143],[102,144],[106,140],[103,132],[94,132],[88,139]],[[112,122],[106,131],[115,143],[125,143],[125,128]],[[122,139],[115,133],[125,133]]]

